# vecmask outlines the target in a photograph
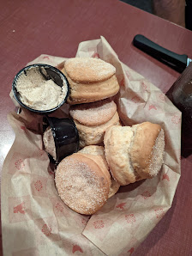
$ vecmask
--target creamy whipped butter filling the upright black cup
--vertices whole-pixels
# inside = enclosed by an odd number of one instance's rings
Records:
[[[42,73],[43,74],[42,74]],[[44,68],[32,67],[25,70],[17,78],[16,89],[20,94],[20,100],[27,107],[35,110],[49,110],[57,107],[65,99],[68,87],[63,80],[63,87],[60,87],[52,79],[46,77]]]

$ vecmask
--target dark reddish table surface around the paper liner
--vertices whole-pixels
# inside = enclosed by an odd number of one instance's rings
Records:
[[[120,60],[166,92],[175,70],[132,45],[143,34],[172,52],[192,58],[192,32],[117,0],[4,1],[0,9],[0,169],[15,134],[7,121],[9,99],[18,70],[40,54],[71,58],[81,41],[103,35]],[[169,210],[134,255],[192,255],[192,155],[182,157],[182,176]],[[1,252],[0,252],[1,254]]]

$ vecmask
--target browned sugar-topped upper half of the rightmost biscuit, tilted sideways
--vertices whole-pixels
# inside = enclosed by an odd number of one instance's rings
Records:
[[[164,130],[149,122],[133,125],[134,137],[130,160],[135,172],[142,179],[153,178],[159,173],[165,149]]]

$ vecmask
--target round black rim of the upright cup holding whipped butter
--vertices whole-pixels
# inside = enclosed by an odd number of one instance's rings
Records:
[[[60,87],[63,87],[63,81],[66,83],[67,94],[66,94],[65,98],[63,99],[63,101],[59,105],[57,105],[57,107],[54,107],[54,108],[51,108],[48,110],[38,110],[38,109],[33,109],[31,107],[27,107],[21,101],[20,94],[17,92],[17,88],[16,88],[17,81],[23,73],[25,75],[27,75],[27,70],[30,70],[33,68],[39,69],[39,72],[41,73],[42,76],[45,77],[45,79],[51,79],[53,82],[55,82]],[[44,69],[46,71],[46,74],[44,74],[42,69]],[[57,110],[57,108],[61,107],[67,101],[67,98],[69,96],[69,82],[68,82],[66,76],[64,76],[60,70],[57,70],[57,68],[55,68],[51,65],[48,65],[48,64],[33,64],[33,65],[29,65],[29,66],[23,68],[22,70],[20,70],[14,78],[14,81],[12,83],[12,89],[13,89],[13,94],[15,96],[15,100],[21,105],[21,107],[25,107],[27,110],[32,111],[33,113],[39,113],[39,114],[53,113],[54,111]]]

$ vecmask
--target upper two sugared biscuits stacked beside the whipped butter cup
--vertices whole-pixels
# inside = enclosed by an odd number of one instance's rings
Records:
[[[98,58],[70,58],[62,71],[69,81],[69,114],[81,148],[102,144],[105,130],[119,125],[117,106],[109,99],[119,91],[115,67]]]

